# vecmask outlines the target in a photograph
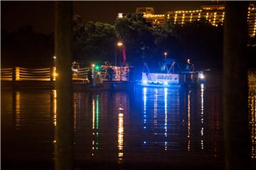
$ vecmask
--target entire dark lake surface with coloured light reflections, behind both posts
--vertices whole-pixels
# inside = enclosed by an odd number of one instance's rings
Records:
[[[75,91],[73,99],[78,162],[203,162],[223,168],[219,86]],[[250,91],[252,158],[256,157],[255,100]],[[1,91],[2,164],[52,161],[55,118],[55,90]]]

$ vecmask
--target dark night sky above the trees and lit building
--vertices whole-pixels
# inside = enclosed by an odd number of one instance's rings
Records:
[[[17,30],[32,26],[40,33],[52,33],[54,28],[54,1],[1,1],[1,29]],[[155,13],[198,9],[211,1],[74,1],[74,14],[82,21],[114,23],[117,13],[135,12],[136,7],[154,7]]]

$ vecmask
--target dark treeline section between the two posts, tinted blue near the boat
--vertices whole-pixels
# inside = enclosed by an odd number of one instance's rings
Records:
[[[197,69],[222,67],[223,26],[212,26],[204,19],[183,26],[169,21],[161,28],[153,28],[142,14],[128,13],[114,26],[82,23],[75,16],[74,38],[75,59],[80,61],[114,62],[116,44],[121,40],[126,46],[128,62],[137,68],[144,61],[151,69],[158,68],[164,52],[180,63],[191,59]]]

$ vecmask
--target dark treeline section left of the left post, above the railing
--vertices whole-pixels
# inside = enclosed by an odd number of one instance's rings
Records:
[[[53,34],[36,33],[31,26],[1,30],[1,67],[50,67],[53,54]]]

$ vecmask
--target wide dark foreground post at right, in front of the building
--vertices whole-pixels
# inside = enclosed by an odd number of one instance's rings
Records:
[[[223,111],[225,168],[248,169],[247,3],[227,1],[224,21]]]

